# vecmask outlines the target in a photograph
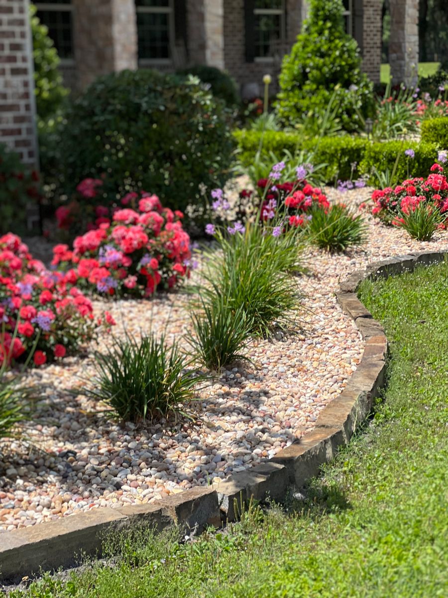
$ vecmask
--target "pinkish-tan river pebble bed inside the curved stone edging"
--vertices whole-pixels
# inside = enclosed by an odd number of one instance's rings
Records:
[[[327,188],[332,201],[359,205],[372,190],[343,196]],[[448,248],[448,234],[415,242],[404,231],[369,218],[369,242],[346,254],[306,251],[309,273],[299,280],[300,325],[274,341],[250,345],[254,365],[217,374],[189,406],[194,423],[136,428],[118,425],[104,407],[84,395],[94,371],[94,345],[27,374],[39,385],[27,443],[10,441],[0,453],[0,532],[103,506],[159,501],[205,486],[270,459],[310,431],[320,411],[345,388],[364,343],[351,319],[336,304],[339,280],[368,263],[410,251]],[[153,301],[97,301],[124,329],[139,335],[154,329],[180,340],[188,331],[185,294]],[[111,337],[100,339],[100,345]],[[76,388],[79,394],[70,393]]]

